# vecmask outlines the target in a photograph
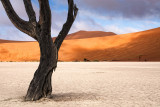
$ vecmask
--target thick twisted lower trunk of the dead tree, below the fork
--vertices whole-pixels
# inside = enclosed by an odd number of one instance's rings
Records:
[[[51,77],[57,67],[57,48],[50,36],[44,35],[39,41],[41,58],[38,69],[30,83],[25,100],[38,100],[52,93]]]

